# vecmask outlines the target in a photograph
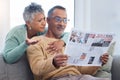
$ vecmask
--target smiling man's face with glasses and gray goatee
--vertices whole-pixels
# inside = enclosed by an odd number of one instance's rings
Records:
[[[62,9],[55,9],[51,18],[48,20],[49,29],[53,35],[60,38],[67,25],[67,14]]]

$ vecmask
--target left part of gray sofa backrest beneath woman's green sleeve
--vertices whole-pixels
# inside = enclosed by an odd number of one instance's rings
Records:
[[[7,64],[0,54],[0,80],[34,80],[26,55],[14,64]]]

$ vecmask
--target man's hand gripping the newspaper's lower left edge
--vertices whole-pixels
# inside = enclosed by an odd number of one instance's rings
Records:
[[[66,66],[67,65],[67,60],[68,60],[68,56],[67,55],[63,55],[63,54],[56,54],[53,58],[53,65],[56,68],[59,68],[60,66]]]

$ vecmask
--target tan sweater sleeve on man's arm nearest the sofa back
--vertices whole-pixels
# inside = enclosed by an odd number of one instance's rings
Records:
[[[41,47],[29,46],[27,57],[34,75],[44,75],[56,69],[52,64],[53,57],[45,58]]]

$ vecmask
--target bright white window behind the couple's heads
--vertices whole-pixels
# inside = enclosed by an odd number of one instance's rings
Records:
[[[51,7],[55,5],[64,6],[67,9],[68,19],[70,19],[65,31],[70,31],[74,27],[74,0],[10,0],[10,28],[25,23],[23,20],[23,11],[25,6],[31,2],[40,4],[46,16]]]

